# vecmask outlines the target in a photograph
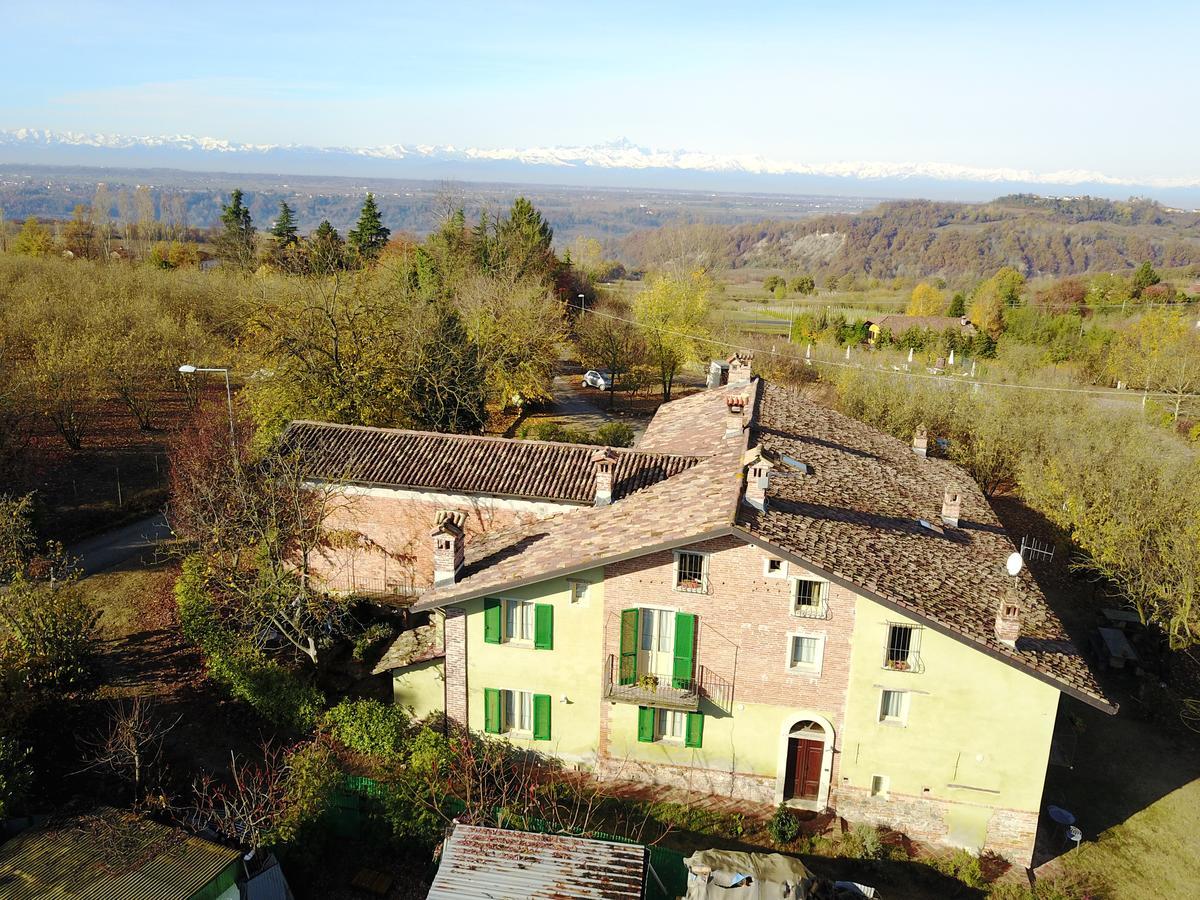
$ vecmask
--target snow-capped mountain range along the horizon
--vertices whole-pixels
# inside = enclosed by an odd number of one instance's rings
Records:
[[[134,137],[40,128],[0,131],[0,161],[47,164],[162,166],[228,169],[232,163],[288,174],[376,174],[413,178],[487,178],[516,181],[736,190],[829,190],[876,196],[995,196],[1010,190],[1102,193],[1127,197],[1152,192],[1163,199],[1200,194],[1198,179],[1129,180],[1087,169],[1032,172],[954,163],[808,163],[755,154],[708,154],[646,148],[620,139],[593,146],[456,148],[431,144],[307,146],[247,144],[169,134]],[[856,190],[859,188],[859,190]],[[1177,200],[1178,202],[1178,200]]]

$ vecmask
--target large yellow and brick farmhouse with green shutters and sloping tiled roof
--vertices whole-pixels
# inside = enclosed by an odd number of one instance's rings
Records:
[[[401,638],[397,697],[602,778],[1027,864],[1060,696],[1115,708],[1028,572],[1007,574],[995,512],[919,436],[730,382],[664,406],[636,451],[589,449],[590,488],[576,449],[545,451],[563,468],[522,478],[570,473],[553,510],[433,512],[415,605],[433,631]],[[511,478],[522,451],[490,446],[480,472]],[[353,490],[368,524],[401,515]]]

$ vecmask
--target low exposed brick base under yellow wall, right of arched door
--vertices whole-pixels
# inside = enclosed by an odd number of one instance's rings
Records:
[[[947,812],[949,800],[890,793],[871,797],[869,790],[842,785],[838,812],[852,822],[900,828],[910,838],[926,844],[949,845]],[[1038,814],[1030,810],[996,809],[988,822],[986,848],[1018,865],[1030,865],[1038,830]]]

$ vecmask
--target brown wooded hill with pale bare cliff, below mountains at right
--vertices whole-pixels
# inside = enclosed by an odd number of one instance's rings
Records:
[[[625,238],[620,254],[643,259],[652,234]],[[990,203],[904,200],[858,214],[726,229],[733,268],[782,268],[880,278],[984,276],[1012,265],[1026,276],[1120,271],[1151,260],[1200,264],[1200,214],[1152,200],[1013,194]]]

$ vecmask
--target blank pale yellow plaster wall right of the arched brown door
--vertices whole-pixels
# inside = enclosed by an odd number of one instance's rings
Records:
[[[923,671],[883,667],[887,623],[918,624],[859,598],[840,780],[918,798],[1036,811],[1058,690],[925,628]],[[878,721],[882,689],[910,691],[904,726]]]

